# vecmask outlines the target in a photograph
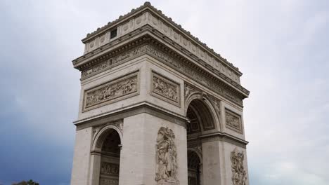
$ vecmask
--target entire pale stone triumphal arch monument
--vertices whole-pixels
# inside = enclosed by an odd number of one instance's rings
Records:
[[[148,2],[82,42],[72,185],[249,184],[237,67]]]

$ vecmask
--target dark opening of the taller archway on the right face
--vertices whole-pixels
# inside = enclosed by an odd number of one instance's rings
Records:
[[[195,99],[186,111],[188,185],[202,185],[202,142],[200,136],[214,129],[214,119],[204,100]]]

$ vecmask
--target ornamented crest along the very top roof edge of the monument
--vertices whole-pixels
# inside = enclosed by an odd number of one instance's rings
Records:
[[[236,72],[238,72],[238,74],[240,74],[240,76],[243,75],[243,73],[239,70],[238,67],[235,67],[231,62],[228,62],[228,60],[226,60],[226,58],[221,57],[221,55],[219,53],[216,53],[214,51],[214,49],[209,48],[206,43],[203,43],[202,41],[200,41],[198,39],[198,37],[193,36],[191,34],[191,32],[188,32],[188,31],[186,31],[186,29],[183,29],[183,27],[181,27],[181,25],[179,25],[176,22],[174,22],[172,20],[172,18],[167,17],[167,15],[164,15],[164,13],[162,13],[161,10],[158,10],[157,8],[155,8],[154,6],[152,6],[150,4],[150,2],[148,2],[148,1],[146,1],[142,6],[139,6],[136,9],[135,8],[131,9],[131,11],[129,13],[127,13],[125,15],[120,15],[120,17],[117,18],[116,20],[114,20],[112,22],[108,22],[107,25],[104,25],[103,27],[98,27],[94,32],[91,32],[91,33],[87,34],[86,37],[84,39],[82,39],[82,42],[83,43],[86,43],[86,41],[89,41],[90,39],[93,39],[94,36],[97,36],[98,34],[101,34],[102,32],[107,31],[112,26],[116,25],[117,23],[120,23],[122,20],[124,20],[126,18],[129,18],[129,16],[133,15],[137,11],[141,11],[143,8],[150,8],[151,10],[153,10],[153,11],[159,13],[160,15],[162,15],[162,18],[165,18],[165,20],[167,20],[168,22],[172,23],[172,25],[174,25],[176,27],[176,29],[179,29],[181,32],[183,32],[187,36],[191,37],[191,39],[193,39],[193,41],[195,41],[196,43],[200,44],[205,49],[207,49],[210,53],[212,53],[213,55],[219,57],[219,60],[221,60],[222,62],[226,63],[229,67],[232,67]]]

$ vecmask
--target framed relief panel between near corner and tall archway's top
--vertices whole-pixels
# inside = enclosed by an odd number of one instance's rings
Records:
[[[155,71],[151,73],[151,81],[150,95],[180,107],[181,88],[179,83],[157,74]]]

